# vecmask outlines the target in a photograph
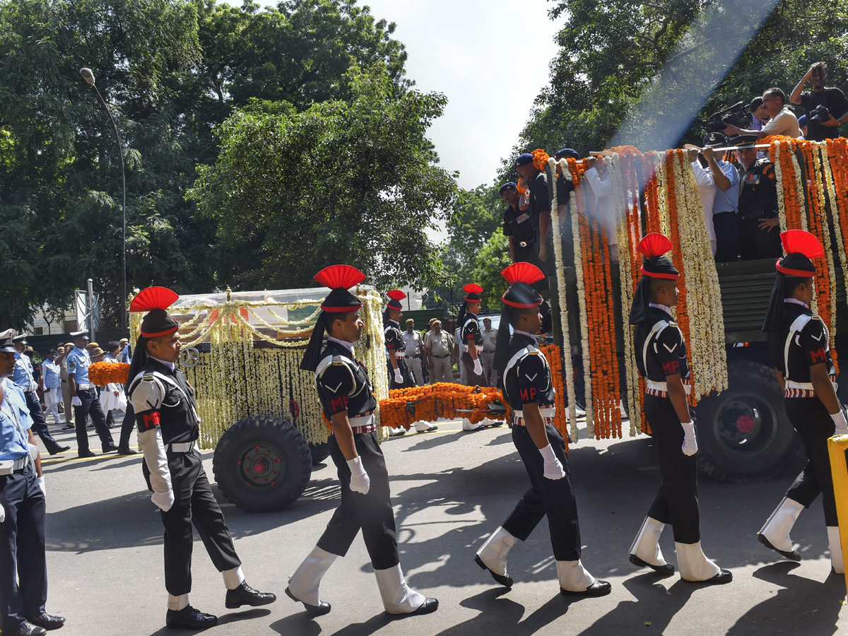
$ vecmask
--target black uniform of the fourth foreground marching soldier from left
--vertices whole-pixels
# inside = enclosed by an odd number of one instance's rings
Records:
[[[689,363],[683,332],[671,314],[656,306],[650,307],[649,317],[653,326],[648,328],[639,323],[633,335],[639,374],[661,384],[665,384],[666,376],[680,374],[685,385],[689,380]],[[647,388],[644,414],[656,440],[662,479],[648,516],[671,524],[677,543],[695,544],[700,541],[695,455],[683,455],[683,427],[667,392]]]

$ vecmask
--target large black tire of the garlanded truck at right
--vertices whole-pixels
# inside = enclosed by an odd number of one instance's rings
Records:
[[[725,483],[765,482],[797,468],[801,439],[789,422],[773,368],[728,365],[728,389],[704,398],[698,418],[698,468]]]

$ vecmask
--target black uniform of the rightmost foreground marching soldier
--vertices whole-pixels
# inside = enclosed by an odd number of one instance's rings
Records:
[[[789,348],[786,343],[789,341]],[[834,434],[834,421],[818,399],[810,383],[810,367],[825,363],[832,382],[836,368],[830,356],[828,328],[805,304],[784,302],[784,315],[778,332],[768,334],[774,364],[786,379],[786,415],[801,437],[807,462],[801,474],[786,491],[786,497],[809,508],[822,495],[824,521],[838,526],[834,483],[830,471],[828,438]],[[798,388],[802,385],[804,388]]]

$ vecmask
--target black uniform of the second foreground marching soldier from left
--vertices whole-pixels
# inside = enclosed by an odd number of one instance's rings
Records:
[[[331,436],[330,456],[338,469],[342,503],[318,540],[318,547],[332,555],[344,556],[361,528],[374,569],[385,570],[397,566],[400,561],[388,471],[380,444],[377,443],[377,427],[373,418],[377,399],[368,371],[342,345],[330,341],[321,353],[321,362],[315,370],[315,382],[321,408],[328,420],[337,413],[348,412],[356,452],[371,479],[371,488],[367,494],[354,493],[350,489],[350,468],[335,436]]]

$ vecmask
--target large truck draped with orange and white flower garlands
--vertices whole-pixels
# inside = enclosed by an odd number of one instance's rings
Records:
[[[828,325],[838,364],[848,329],[843,274],[848,271],[848,142],[780,137],[761,144],[776,167],[780,230],[808,230],[825,247],[812,309]],[[620,147],[596,154],[611,185],[601,199],[584,183],[586,159],[556,162],[544,151],[534,153],[537,166],[547,170],[554,210],[555,342],[572,353],[561,359],[564,384],[586,405],[589,437],[622,436],[620,404],[628,410],[632,436],[650,432],[642,409],[644,381],[636,369],[641,352],[633,349],[628,312],[639,280],[636,246],[648,232],[662,232],[672,240],[670,255],[681,272],[676,319],[689,342],[700,470],[733,483],[794,470],[803,452],[761,331],[774,261],[715,263],[686,149],[640,153]],[[568,201],[556,201],[557,178],[574,186]],[[617,262],[611,258],[611,236],[617,239]],[[571,248],[576,258],[568,254]],[[839,393],[845,401],[845,388]],[[577,416],[574,400],[571,404],[574,442]]]

